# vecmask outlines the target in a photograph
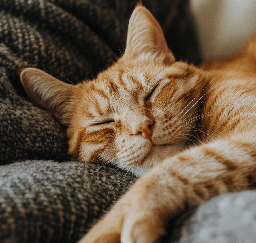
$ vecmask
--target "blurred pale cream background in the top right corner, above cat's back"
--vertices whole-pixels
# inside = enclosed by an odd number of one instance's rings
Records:
[[[255,0],[191,0],[203,59],[234,53],[256,32]]]

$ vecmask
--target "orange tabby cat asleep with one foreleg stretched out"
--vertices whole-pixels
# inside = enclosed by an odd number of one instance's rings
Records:
[[[20,78],[67,126],[75,159],[141,176],[80,243],[159,242],[183,210],[256,186],[256,35],[233,57],[196,67],[175,61],[138,4],[125,53],[95,80],[74,86],[35,68]]]

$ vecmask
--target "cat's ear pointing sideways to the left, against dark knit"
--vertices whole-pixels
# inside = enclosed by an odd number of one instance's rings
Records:
[[[51,112],[57,120],[65,123],[62,116],[71,98],[73,85],[64,83],[37,68],[21,70],[20,80],[27,95],[37,106]]]

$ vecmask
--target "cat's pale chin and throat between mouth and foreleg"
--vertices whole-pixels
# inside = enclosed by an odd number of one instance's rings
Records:
[[[133,175],[140,177],[148,172],[155,165],[159,164],[163,160],[173,155],[176,155],[178,152],[184,149],[184,144],[173,145],[152,145],[150,152],[146,155],[144,160],[138,164],[133,164],[127,168],[123,168],[133,173]]]

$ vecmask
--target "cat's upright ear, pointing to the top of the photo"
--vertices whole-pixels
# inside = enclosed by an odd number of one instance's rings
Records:
[[[152,49],[159,55],[164,55],[167,64],[175,62],[175,57],[167,46],[160,24],[148,9],[137,6],[129,20],[124,57],[125,55],[137,56]]]

